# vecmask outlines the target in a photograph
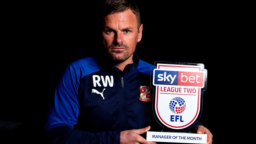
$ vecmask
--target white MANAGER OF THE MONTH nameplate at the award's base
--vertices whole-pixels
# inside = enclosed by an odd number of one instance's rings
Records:
[[[147,141],[206,144],[207,134],[148,131]]]

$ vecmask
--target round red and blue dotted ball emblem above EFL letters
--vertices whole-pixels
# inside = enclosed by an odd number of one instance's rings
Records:
[[[175,114],[180,114],[186,109],[185,100],[180,97],[175,97],[170,101],[170,109]]]

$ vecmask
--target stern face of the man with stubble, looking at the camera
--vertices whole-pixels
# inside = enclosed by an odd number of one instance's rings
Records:
[[[137,42],[141,40],[142,24],[138,30],[135,14],[130,10],[109,14],[104,18],[103,45],[115,62],[132,60]]]

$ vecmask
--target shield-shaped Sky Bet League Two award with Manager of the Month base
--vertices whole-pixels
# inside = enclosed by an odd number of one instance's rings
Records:
[[[206,144],[207,134],[191,133],[202,112],[207,70],[203,64],[155,62],[151,73],[153,112],[161,132],[148,131],[155,142]]]

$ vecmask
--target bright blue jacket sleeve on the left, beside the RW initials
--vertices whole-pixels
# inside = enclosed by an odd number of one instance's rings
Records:
[[[80,111],[78,87],[81,68],[70,65],[54,94],[45,125],[49,143],[120,143],[120,132],[89,133],[74,129]]]

